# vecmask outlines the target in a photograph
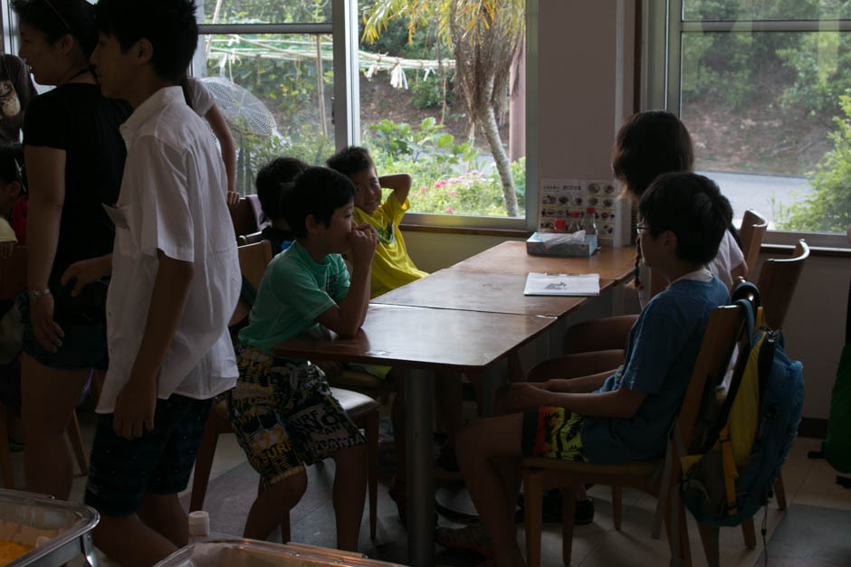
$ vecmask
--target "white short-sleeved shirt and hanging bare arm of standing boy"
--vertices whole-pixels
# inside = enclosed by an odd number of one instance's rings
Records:
[[[206,124],[179,87],[158,90],[121,125],[127,162],[107,296],[110,367],[97,411],[114,411],[127,383],[157,277],[158,250],[192,262],[186,309],[158,377],[158,397],[206,399],[234,386],[238,371],[227,323],[241,285],[225,166]]]

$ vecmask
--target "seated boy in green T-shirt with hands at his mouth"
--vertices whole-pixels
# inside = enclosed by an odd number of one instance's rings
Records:
[[[263,274],[249,324],[239,333],[239,379],[227,405],[236,439],[260,473],[244,536],[265,539],[307,488],[304,467],[334,458],[333,502],[340,549],[355,551],[366,494],[364,439],[310,361],[276,358],[272,347],[315,326],[358,332],[367,314],[378,234],[352,222],[355,187],[345,175],[309,167],[284,194],[295,241]],[[341,253],[349,251],[352,276]]]

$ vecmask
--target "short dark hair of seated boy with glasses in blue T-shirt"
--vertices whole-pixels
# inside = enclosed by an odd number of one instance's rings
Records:
[[[718,185],[703,175],[672,173],[656,177],[638,202],[638,212],[654,238],[676,234],[676,256],[706,264],[718,253],[732,221],[732,208]]]

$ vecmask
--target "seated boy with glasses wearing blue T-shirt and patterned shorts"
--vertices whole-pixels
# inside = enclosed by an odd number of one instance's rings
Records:
[[[730,300],[706,264],[732,212],[711,180],[682,173],[656,178],[638,210],[642,261],[672,283],[638,317],[624,365],[610,376],[512,384],[505,400],[511,414],[462,430],[458,460],[483,526],[445,530],[439,542],[473,548],[496,565],[524,565],[513,526],[520,487],[516,458],[607,464],[665,454],[666,431],[685,395],[709,317]],[[495,458],[514,458],[512,471],[502,471],[505,480]]]

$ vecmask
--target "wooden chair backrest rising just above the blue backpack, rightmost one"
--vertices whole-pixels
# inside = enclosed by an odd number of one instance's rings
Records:
[[[770,258],[762,264],[757,288],[760,289],[765,324],[770,328],[782,328],[808,256],[807,242],[798,241],[791,258]]]

